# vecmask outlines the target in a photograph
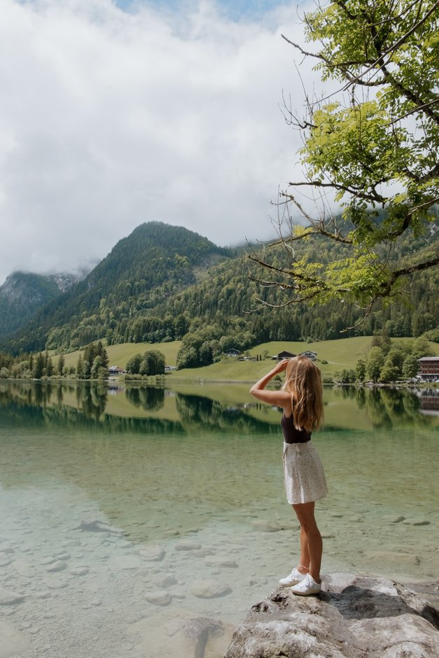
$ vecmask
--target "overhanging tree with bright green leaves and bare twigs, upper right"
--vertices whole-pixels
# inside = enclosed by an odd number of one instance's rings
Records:
[[[250,254],[266,270],[250,278],[287,293],[270,305],[351,301],[365,318],[377,300],[401,291],[408,275],[438,265],[438,237],[392,259],[398,244],[426,234],[438,219],[438,17],[437,0],[336,0],[304,16],[305,38],[316,50],[286,38],[338,89],[307,96],[305,117],[284,101],[287,122],[303,138],[304,174],[277,204],[275,244],[285,247],[291,266],[277,265],[267,251]],[[298,198],[302,190],[318,200],[316,213]],[[339,217],[329,210],[332,201],[343,209]],[[312,262],[293,249],[310,239],[315,249],[342,245],[343,254]]]

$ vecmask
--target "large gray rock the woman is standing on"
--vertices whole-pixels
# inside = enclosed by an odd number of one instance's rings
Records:
[[[439,611],[387,578],[335,573],[317,596],[275,590],[255,604],[224,658],[438,658]]]

